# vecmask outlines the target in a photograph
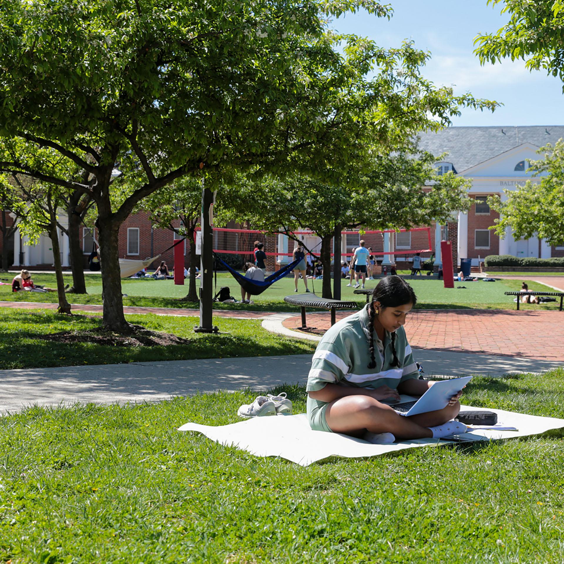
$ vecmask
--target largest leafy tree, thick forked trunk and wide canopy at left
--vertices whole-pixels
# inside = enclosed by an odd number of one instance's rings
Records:
[[[118,230],[156,190],[254,165],[328,177],[374,138],[398,145],[426,113],[436,129],[461,105],[495,107],[422,80],[428,55],[411,43],[385,50],[328,29],[327,16],[360,6],[390,14],[373,0],[3,2],[0,135],[50,147],[89,177],[0,170],[94,200],[107,329],[130,330]]]

